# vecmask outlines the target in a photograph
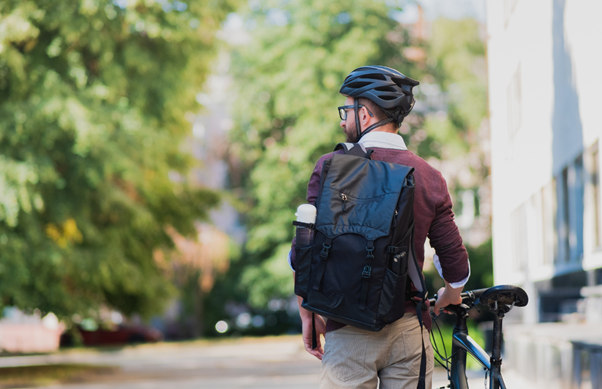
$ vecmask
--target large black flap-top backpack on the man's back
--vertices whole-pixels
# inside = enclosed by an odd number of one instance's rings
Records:
[[[359,144],[339,149],[345,153],[322,168],[315,225],[293,222],[315,230],[313,245],[295,248],[295,294],[308,311],[369,331],[400,319],[413,299],[422,328],[426,288],[414,251],[414,168],[372,160],[372,150]],[[423,340],[418,388],[425,355]]]

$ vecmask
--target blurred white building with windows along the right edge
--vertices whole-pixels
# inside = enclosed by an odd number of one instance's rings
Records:
[[[600,15],[487,2],[494,275],[528,292],[524,323],[602,321]]]

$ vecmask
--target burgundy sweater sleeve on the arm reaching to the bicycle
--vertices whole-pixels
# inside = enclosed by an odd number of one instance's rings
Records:
[[[435,210],[428,233],[429,240],[439,257],[443,278],[449,283],[465,281],[470,274],[468,254],[454,221],[452,201],[443,177],[439,193],[442,199]]]

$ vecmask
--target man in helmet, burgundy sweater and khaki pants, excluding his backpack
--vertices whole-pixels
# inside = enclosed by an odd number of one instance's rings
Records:
[[[418,85],[400,72],[384,66],[364,66],[352,71],[340,93],[346,96],[339,107],[340,126],[347,142],[372,149],[372,159],[414,168],[414,246],[420,267],[424,263],[424,243],[429,237],[436,251],[435,266],[445,280],[438,291],[435,311],[461,302],[462,287],[470,276],[466,249],[454,222],[452,203],[441,174],[423,159],[408,151],[397,130],[414,106],[412,88]],[[322,156],[311,175],[307,201],[315,205],[324,161]],[[294,250],[292,250],[294,267]],[[426,345],[426,388],[431,387],[433,351],[428,332],[421,331],[412,301],[405,305],[405,315],[380,332],[345,326],[315,315],[318,347],[312,349],[312,313],[301,307],[305,349],[322,360],[321,388],[381,389],[416,388],[422,356],[422,340]],[[430,328],[428,315],[424,315]],[[325,334],[324,348],[320,335]],[[424,336],[424,338],[421,338]]]

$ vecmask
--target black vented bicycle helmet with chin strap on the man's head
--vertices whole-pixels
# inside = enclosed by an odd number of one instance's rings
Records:
[[[418,81],[386,66],[362,66],[349,73],[339,93],[354,98],[358,140],[376,127],[387,123],[395,122],[398,126],[401,125],[403,118],[414,108],[416,100],[412,88],[419,84]],[[360,97],[373,101],[388,116],[387,119],[374,123],[364,132],[359,128],[357,99]]]

